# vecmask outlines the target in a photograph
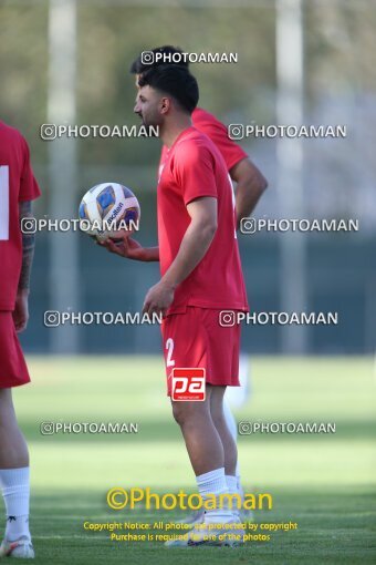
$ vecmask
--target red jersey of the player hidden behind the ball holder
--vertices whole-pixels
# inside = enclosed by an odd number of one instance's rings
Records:
[[[192,112],[192,125],[199,132],[205,133],[215,145],[219,148],[222,157],[224,158],[227,170],[230,171],[237,163],[247,158],[247,153],[233,140],[229,138],[226,125],[222,124],[216,116],[196,107]],[[166,158],[167,147],[164,145],[160,155],[160,165]]]

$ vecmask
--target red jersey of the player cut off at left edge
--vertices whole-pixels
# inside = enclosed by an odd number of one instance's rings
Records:
[[[19,202],[40,195],[28,143],[0,122],[0,310],[13,310],[22,266]]]

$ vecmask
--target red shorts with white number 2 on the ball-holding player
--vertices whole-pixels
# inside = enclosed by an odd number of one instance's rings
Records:
[[[217,387],[239,387],[240,325],[222,327],[220,310],[188,306],[185,314],[164,319],[161,336],[171,394],[173,368],[205,368],[206,382]]]

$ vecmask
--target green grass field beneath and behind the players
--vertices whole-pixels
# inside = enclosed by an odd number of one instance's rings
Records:
[[[269,492],[257,522],[296,522],[241,548],[112,542],[84,521],[148,522],[176,512],[112,511],[113,486],[195,491],[165,397],[159,358],[30,358],[33,384],[14,393],[32,458],[36,564],[376,563],[376,381],[367,358],[251,362],[252,394],[237,420],[335,422],[335,434],[252,434],[239,440],[244,487]],[[136,422],[137,434],[42,435],[42,422]]]

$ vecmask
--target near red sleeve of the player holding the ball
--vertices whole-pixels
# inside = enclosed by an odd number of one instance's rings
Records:
[[[174,176],[186,206],[202,196],[217,198],[215,156],[208,147],[182,142],[176,148],[174,161]]]

